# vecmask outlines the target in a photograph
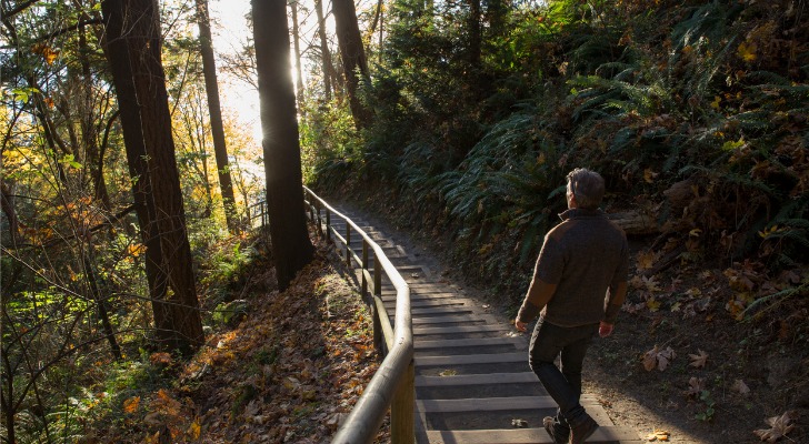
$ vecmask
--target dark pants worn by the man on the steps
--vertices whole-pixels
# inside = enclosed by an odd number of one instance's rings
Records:
[[[562,426],[583,418],[581,396],[581,367],[585,354],[598,332],[598,324],[563,327],[542,322],[533,329],[528,363],[548,394],[559,405],[557,421]],[[561,355],[561,371],[553,361]]]

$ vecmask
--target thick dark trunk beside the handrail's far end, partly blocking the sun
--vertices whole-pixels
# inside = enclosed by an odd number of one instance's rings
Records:
[[[283,290],[311,261],[314,249],[303,208],[287,8],[278,0],[252,0],[251,3],[270,236],[278,286]]]

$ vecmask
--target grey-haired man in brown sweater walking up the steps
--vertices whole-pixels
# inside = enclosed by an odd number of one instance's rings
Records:
[[[568,176],[568,210],[545,236],[533,280],[515,326],[539,314],[529,363],[559,405],[543,420],[556,443],[583,443],[598,424],[579,403],[581,367],[596,332],[612,333],[627,295],[629,249],[623,231],[598,209],[605,194],[601,175],[576,169]],[[561,371],[553,361],[561,360]]]

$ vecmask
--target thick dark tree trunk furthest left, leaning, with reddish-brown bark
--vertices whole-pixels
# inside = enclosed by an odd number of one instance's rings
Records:
[[[121,110],[157,337],[188,353],[202,322],[171,137],[157,0],[104,0],[107,54]]]

